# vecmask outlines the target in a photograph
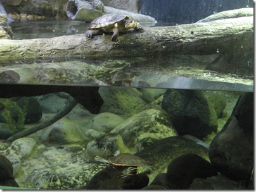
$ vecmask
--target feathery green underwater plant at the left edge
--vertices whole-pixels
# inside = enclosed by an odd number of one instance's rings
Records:
[[[27,108],[29,106],[29,99],[27,97],[23,98],[22,108],[14,100],[11,99],[1,99],[1,103],[4,105],[4,111],[2,112],[2,116],[5,118],[6,121],[6,129],[8,129],[10,133],[14,133],[15,131],[21,131],[24,128]],[[16,114],[18,119],[13,119],[11,114]]]

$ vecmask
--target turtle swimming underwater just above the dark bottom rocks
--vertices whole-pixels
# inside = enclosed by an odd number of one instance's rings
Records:
[[[152,172],[150,165],[146,160],[133,155],[132,153],[116,153],[109,159],[94,157],[98,162],[111,164],[113,167],[121,167],[122,177],[131,176],[132,174],[150,174]]]

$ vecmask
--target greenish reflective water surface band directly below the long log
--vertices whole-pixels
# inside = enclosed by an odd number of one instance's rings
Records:
[[[31,62],[7,64],[1,67],[2,83],[37,85],[86,85],[184,88],[199,90],[230,90],[253,92],[253,71],[227,73],[225,68],[210,71],[215,66],[212,56],[175,56],[134,59],[106,59],[64,62]],[[70,68],[72,66],[72,68]],[[232,66],[237,71],[236,66]],[[10,71],[13,71],[10,73]],[[9,78],[6,78],[9,74]],[[18,76],[18,77],[17,77]]]

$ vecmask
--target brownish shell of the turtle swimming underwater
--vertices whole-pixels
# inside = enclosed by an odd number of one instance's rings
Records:
[[[110,157],[108,160],[111,164],[117,166],[137,167],[148,164],[144,159],[141,159],[141,157],[132,155],[131,153],[120,153],[117,156]]]

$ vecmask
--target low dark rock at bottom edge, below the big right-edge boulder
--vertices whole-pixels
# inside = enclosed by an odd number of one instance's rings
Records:
[[[221,174],[217,176],[203,178],[195,178],[189,186],[189,190],[234,190],[245,189],[241,182],[233,181]]]

